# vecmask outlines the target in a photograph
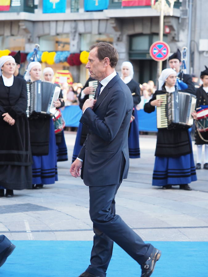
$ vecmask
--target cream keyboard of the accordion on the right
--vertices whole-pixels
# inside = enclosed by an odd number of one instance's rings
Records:
[[[157,107],[157,128],[167,128],[168,118],[167,118],[167,96],[165,94],[157,94],[156,99],[162,99],[160,107]]]

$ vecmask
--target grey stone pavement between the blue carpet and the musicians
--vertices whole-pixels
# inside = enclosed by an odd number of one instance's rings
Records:
[[[65,134],[69,161],[58,163],[58,182],[0,198],[0,234],[13,240],[92,240],[88,187],[69,173],[75,136]],[[156,136],[140,136],[141,158],[130,159],[116,213],[145,241],[207,241],[208,171],[197,171],[192,191],[152,187],[155,145]]]

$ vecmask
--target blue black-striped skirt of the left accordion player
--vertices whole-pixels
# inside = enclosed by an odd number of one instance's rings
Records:
[[[53,119],[50,120],[50,138],[48,155],[32,156],[32,183],[49,185],[58,181],[56,141]]]

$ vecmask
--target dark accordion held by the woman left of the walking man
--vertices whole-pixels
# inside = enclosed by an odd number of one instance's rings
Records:
[[[52,116],[56,107],[54,101],[59,98],[61,88],[41,80],[27,83],[27,116]]]

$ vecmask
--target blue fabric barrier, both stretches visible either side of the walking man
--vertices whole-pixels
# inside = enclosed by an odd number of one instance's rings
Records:
[[[78,127],[82,111],[78,105],[66,106],[61,111],[67,127]],[[137,110],[139,131],[157,132],[156,111],[148,114],[144,110]]]

